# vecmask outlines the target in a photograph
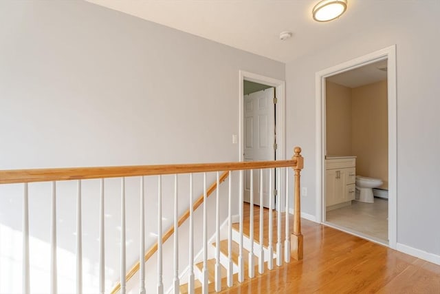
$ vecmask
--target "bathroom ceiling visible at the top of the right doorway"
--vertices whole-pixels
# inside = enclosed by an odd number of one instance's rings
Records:
[[[377,61],[364,65],[362,67],[342,72],[327,78],[327,81],[337,83],[345,87],[355,88],[363,85],[369,85],[379,81],[385,81],[387,78],[387,61]]]

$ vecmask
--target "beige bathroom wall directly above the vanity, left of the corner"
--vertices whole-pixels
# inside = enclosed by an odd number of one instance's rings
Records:
[[[327,155],[353,155],[351,89],[326,82]]]

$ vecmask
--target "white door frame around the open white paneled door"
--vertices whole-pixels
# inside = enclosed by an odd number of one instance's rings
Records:
[[[261,83],[275,88],[277,102],[276,117],[275,117],[275,132],[277,149],[275,151],[276,160],[284,160],[285,153],[285,81],[271,78],[269,76],[262,76],[261,74],[254,74],[252,72],[245,72],[239,70],[239,161],[244,160],[244,94],[243,82],[251,81],[254,83]],[[285,195],[285,171],[281,173],[281,191],[278,195]],[[276,209],[276,207],[275,207]],[[281,211],[285,211],[285,198],[281,197]]]

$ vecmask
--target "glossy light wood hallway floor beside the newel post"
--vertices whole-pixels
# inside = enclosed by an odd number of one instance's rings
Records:
[[[248,224],[249,213],[244,219]],[[304,260],[222,293],[440,293],[440,266],[307,220],[302,229]]]

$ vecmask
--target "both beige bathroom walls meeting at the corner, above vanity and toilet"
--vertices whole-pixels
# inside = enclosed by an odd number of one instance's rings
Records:
[[[387,83],[355,88],[326,82],[327,155],[355,155],[356,174],[388,188]]]

